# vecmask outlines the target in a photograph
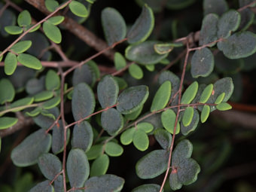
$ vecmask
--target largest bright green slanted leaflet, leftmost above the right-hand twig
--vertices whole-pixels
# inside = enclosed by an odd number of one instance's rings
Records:
[[[158,111],[166,107],[169,102],[169,97],[171,96],[172,84],[170,81],[165,81],[157,90],[154,96],[151,112]]]

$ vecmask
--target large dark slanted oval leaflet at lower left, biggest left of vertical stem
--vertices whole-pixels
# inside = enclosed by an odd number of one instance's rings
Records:
[[[11,151],[11,160],[16,166],[31,166],[37,163],[41,154],[50,150],[51,136],[40,129],[27,136],[20,145]]]

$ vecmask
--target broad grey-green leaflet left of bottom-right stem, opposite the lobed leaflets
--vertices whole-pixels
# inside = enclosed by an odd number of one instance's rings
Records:
[[[136,163],[139,178],[155,178],[166,171],[169,153],[166,150],[155,150],[146,154]],[[161,158],[159,158],[161,157]]]

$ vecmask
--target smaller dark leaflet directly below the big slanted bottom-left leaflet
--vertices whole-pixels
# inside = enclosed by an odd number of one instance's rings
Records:
[[[38,166],[45,178],[53,180],[61,171],[62,163],[54,154],[42,154],[38,158]]]

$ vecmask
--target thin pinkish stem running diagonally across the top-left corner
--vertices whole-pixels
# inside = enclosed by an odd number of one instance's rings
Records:
[[[56,14],[56,12],[58,12],[60,9],[64,8],[66,5],[69,5],[69,3],[72,2],[72,0],[69,0],[68,2],[64,3],[63,5],[59,6],[59,8],[56,8],[55,11],[53,11],[51,14],[47,15],[47,17],[44,17],[43,20],[39,21],[38,23],[36,23],[34,26],[32,26],[31,28],[29,28],[26,32],[23,32],[22,35],[20,35],[20,37],[18,37],[12,44],[10,44],[5,50],[3,50],[2,53],[0,53],[0,56],[4,55],[8,50],[10,50],[11,47],[14,46],[14,44],[16,44],[18,41],[20,41],[20,39],[22,39],[26,34],[28,34],[32,29],[35,29],[35,27],[37,27],[38,25],[40,25],[41,23],[44,23],[47,19],[49,19],[50,17],[52,17],[54,14]]]

